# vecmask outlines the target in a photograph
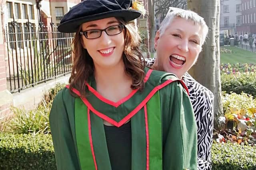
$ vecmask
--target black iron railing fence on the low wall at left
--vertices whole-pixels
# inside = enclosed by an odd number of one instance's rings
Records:
[[[38,26],[12,21],[4,30],[10,92],[33,87],[71,71],[73,33],[60,33],[53,23]]]

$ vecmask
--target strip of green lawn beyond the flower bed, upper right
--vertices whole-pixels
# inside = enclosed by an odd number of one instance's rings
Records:
[[[256,53],[239,49],[237,47],[221,46],[221,48],[226,48],[232,50],[232,53],[220,53],[220,63],[248,63],[256,64]]]

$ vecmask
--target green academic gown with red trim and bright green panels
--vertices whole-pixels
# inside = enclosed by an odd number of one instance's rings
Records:
[[[58,170],[111,170],[103,119],[116,127],[130,119],[132,170],[197,169],[196,121],[186,87],[173,74],[145,72],[144,90],[118,102],[100,96],[93,79],[86,98],[71,96],[69,86],[56,95],[50,127]]]

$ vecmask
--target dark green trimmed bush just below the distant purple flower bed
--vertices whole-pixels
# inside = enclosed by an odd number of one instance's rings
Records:
[[[256,72],[243,72],[236,74],[221,75],[221,89],[227,93],[235,92],[240,94],[245,92],[256,97]]]

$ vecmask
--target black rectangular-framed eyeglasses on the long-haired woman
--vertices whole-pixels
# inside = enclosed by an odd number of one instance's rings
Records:
[[[112,25],[105,29],[89,29],[81,31],[80,35],[84,35],[87,39],[95,39],[101,36],[102,31],[105,31],[107,35],[117,35],[122,32],[124,25]]]

